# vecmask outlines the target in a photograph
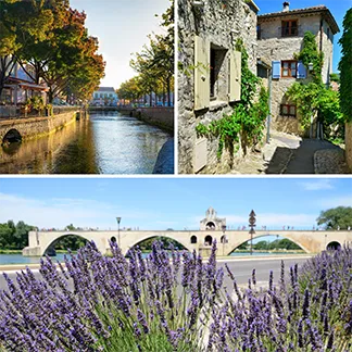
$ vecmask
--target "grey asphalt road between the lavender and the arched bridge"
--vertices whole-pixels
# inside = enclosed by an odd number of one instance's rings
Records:
[[[307,261],[310,256],[282,256],[282,257],[275,257],[275,259],[229,259],[229,260],[222,260],[219,259],[217,261],[218,267],[224,266],[225,263],[229,266],[230,271],[236,277],[236,281],[240,286],[244,286],[248,284],[248,279],[252,277],[252,271],[255,268],[255,276],[256,276],[256,286],[267,286],[268,277],[271,271],[274,273],[274,282],[277,282],[280,278],[280,268],[281,268],[281,260],[285,262],[286,267],[286,275],[289,275],[289,268],[290,266],[293,266],[296,263],[301,266],[303,263]],[[13,271],[5,269],[7,274],[10,276],[11,279],[15,280],[16,274]],[[226,269],[225,269],[226,271]],[[40,277],[38,269],[33,269],[36,277]],[[2,273],[2,272],[1,272]],[[228,275],[225,274],[225,286],[230,289],[232,287],[232,284],[230,279],[228,278]],[[3,276],[0,276],[0,290],[7,289],[7,282],[3,278]]]

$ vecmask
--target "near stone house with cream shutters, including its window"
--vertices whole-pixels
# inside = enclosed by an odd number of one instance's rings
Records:
[[[256,14],[253,1],[178,0],[178,172],[225,173],[234,155],[217,156],[218,140],[200,138],[196,127],[230,114],[241,96],[242,39],[256,73]],[[238,156],[239,158],[239,156]]]

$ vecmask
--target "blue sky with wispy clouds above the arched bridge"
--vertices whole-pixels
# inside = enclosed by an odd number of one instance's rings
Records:
[[[198,229],[209,206],[227,226],[312,228],[322,210],[352,205],[352,179],[338,178],[0,178],[0,223],[42,228]]]

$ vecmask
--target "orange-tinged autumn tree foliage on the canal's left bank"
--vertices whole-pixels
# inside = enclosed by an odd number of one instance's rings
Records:
[[[85,21],[68,0],[1,2],[0,89],[18,62],[36,84],[48,85],[50,102],[58,96],[88,99],[104,75],[104,62]]]

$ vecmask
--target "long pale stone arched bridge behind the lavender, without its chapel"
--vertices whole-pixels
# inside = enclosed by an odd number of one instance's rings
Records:
[[[225,234],[225,236],[224,236]],[[95,241],[102,253],[109,252],[109,241],[118,243],[118,232],[115,231],[30,231],[29,246],[23,250],[23,255],[40,256],[54,247],[54,243],[65,236],[78,236],[88,241]],[[352,243],[352,231],[331,230],[257,230],[253,238],[263,236],[280,236],[300,246],[306,253],[318,253],[328,247]],[[124,254],[134,246],[149,239],[165,237],[183,244],[187,250],[209,253],[211,244],[217,241],[217,254],[228,255],[240,244],[250,240],[246,230],[184,230],[184,231],[120,231],[120,242]]]

